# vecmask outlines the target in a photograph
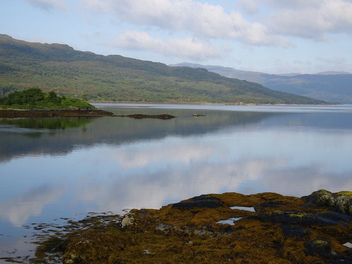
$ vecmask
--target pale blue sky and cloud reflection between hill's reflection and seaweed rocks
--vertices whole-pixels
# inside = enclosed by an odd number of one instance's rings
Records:
[[[3,178],[4,186],[13,190],[13,198],[6,189],[0,193],[0,217],[22,225],[33,215],[52,214],[54,219],[92,211],[122,213],[207,193],[303,196],[320,188],[352,190],[350,130],[288,128],[275,123],[280,118],[266,119],[269,125],[260,119],[202,133],[156,137],[158,130],[151,130],[146,138],[83,144],[62,155],[21,155],[0,164],[2,175],[12,175]],[[59,136],[57,144],[65,133]],[[48,205],[55,212],[46,212]]]

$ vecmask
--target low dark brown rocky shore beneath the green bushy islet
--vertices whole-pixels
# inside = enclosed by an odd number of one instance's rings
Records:
[[[0,110],[0,117],[103,117],[114,113],[99,109],[79,110]]]

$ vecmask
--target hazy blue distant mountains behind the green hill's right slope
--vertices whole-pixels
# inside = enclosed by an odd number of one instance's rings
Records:
[[[352,104],[352,74],[345,71],[325,71],[316,74],[267,74],[255,71],[241,71],[233,68],[178,63],[169,66],[205,68],[214,73],[249,82],[257,82],[273,90],[293,93],[327,102]]]

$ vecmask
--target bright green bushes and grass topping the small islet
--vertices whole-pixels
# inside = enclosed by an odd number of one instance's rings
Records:
[[[29,88],[21,92],[14,92],[6,97],[0,98],[0,108],[2,109],[96,109],[94,106],[76,98],[66,98],[58,96],[56,92],[43,93],[39,88]]]

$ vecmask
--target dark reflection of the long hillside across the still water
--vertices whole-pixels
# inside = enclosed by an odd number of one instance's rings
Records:
[[[116,114],[172,114],[178,118],[171,120],[132,119],[122,117],[101,117],[94,119],[60,118],[60,122],[72,124],[69,130],[51,130],[40,137],[33,137],[34,132],[13,133],[0,129],[0,159],[6,161],[20,155],[63,155],[76,147],[108,144],[119,146],[145,139],[160,139],[167,136],[192,136],[217,131],[224,127],[247,126],[264,119],[289,113],[233,112],[189,109],[135,109],[114,108]],[[193,113],[206,114],[206,117],[192,117]],[[51,120],[48,119],[49,123]],[[42,119],[44,121],[44,119]],[[73,122],[73,121],[76,121]],[[6,121],[18,122],[18,121]],[[22,121],[21,121],[22,122]],[[51,126],[53,124],[49,124]],[[4,123],[2,123],[4,124]],[[8,123],[7,123],[8,124]],[[43,125],[43,127],[46,125]],[[83,126],[82,128],[79,126]],[[58,126],[59,127],[59,126]],[[1,128],[1,123],[0,123]],[[30,136],[32,135],[32,136]]]

